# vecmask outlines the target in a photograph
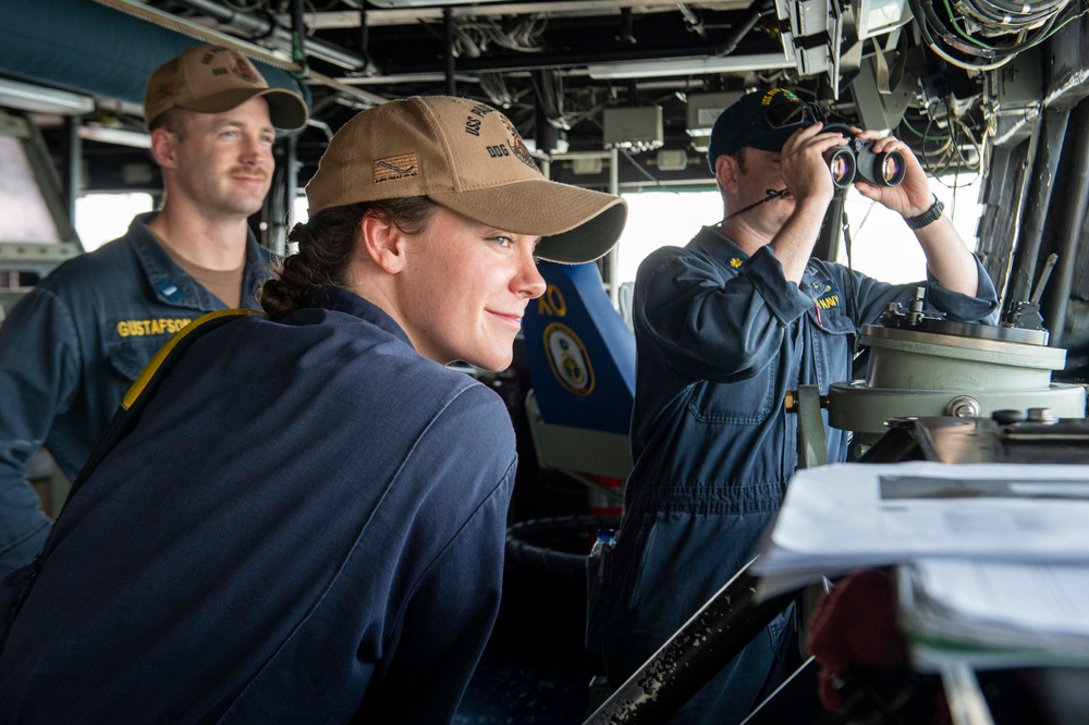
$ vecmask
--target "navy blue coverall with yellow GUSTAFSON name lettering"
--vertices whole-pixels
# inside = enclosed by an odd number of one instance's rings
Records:
[[[147,230],[58,267],[0,324],[0,577],[41,549],[50,521],[27,480],[45,446],[64,475],[79,471],[151,356],[205,312],[223,309]],[[271,254],[250,233],[242,306],[257,308]]]

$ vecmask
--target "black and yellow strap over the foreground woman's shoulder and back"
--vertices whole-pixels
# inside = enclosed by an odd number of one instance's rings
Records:
[[[167,341],[167,344],[155,354],[155,357],[144,367],[144,370],[140,371],[136,381],[129,389],[129,392],[125,393],[120,407],[118,407],[117,413],[110,419],[110,423],[106,427],[106,432],[102,433],[102,437],[98,440],[98,444],[95,445],[95,448],[87,457],[87,462],[79,469],[75,480],[72,481],[72,489],[69,491],[68,499],[64,502],[64,506],[61,507],[58,518],[64,515],[64,508],[72,501],[72,496],[75,495],[84,481],[90,478],[90,475],[98,468],[98,465],[117,447],[122,439],[136,428],[136,423],[139,422],[140,415],[143,415],[144,409],[147,407],[148,401],[155,396],[155,392],[159,389],[163,378],[169,374],[171,368],[174,367],[174,364],[178,362],[179,358],[181,358],[182,354],[188,349],[194,341],[206,332],[211,332],[231,320],[259,314],[252,309],[222,309],[208,312],[186,324]],[[34,581],[38,578],[38,573],[41,572],[41,563],[49,549],[49,540],[51,538],[52,531],[49,532],[46,542],[41,546],[41,551],[38,552],[38,555],[35,556],[34,562],[30,564],[30,572],[26,576],[22,589],[4,617],[3,632],[0,634],[0,652],[3,651],[3,647],[8,641],[8,630],[11,628],[11,623],[15,619],[15,615],[19,614],[20,609],[22,609],[23,602],[30,594]]]

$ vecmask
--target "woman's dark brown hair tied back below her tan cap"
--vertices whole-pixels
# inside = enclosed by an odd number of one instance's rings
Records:
[[[279,320],[305,306],[318,290],[347,288],[359,223],[367,213],[391,222],[406,234],[418,234],[438,207],[426,196],[362,201],[325,209],[308,222],[295,224],[287,239],[298,244],[298,254],[273,263],[276,277],[261,286],[261,307],[269,318]]]

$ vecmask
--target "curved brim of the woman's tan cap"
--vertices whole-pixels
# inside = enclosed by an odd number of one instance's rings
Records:
[[[624,199],[544,179],[428,196],[484,224],[539,236],[539,258],[572,265],[612,249],[627,221]]]

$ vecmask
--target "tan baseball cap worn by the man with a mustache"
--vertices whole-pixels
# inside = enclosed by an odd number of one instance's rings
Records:
[[[269,118],[277,128],[294,131],[306,125],[309,112],[298,94],[269,88],[249,59],[237,51],[196,46],[151,74],[144,91],[144,119],[150,127],[172,108],[222,113],[257,96],[268,101]]]

